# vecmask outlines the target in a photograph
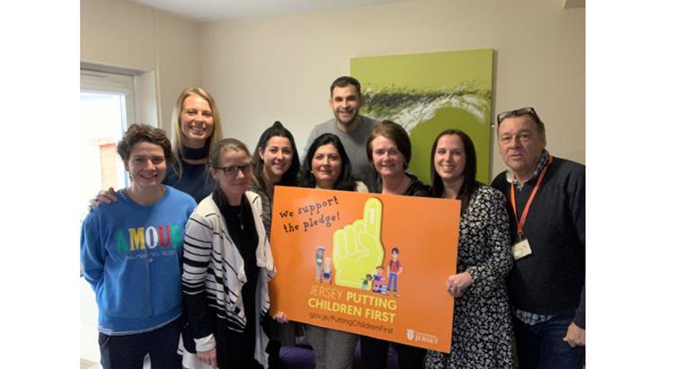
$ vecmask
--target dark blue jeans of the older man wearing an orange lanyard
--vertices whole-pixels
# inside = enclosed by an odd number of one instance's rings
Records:
[[[571,347],[562,338],[573,317],[554,317],[536,325],[512,318],[520,369],[582,368],[585,347]]]

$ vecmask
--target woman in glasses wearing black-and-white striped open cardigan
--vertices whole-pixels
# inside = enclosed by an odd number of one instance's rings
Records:
[[[182,293],[188,327],[182,363],[266,367],[268,338],[261,321],[270,309],[268,280],[275,269],[262,200],[248,191],[251,154],[241,141],[226,138],[211,148],[208,164],[216,189],[185,225]],[[282,312],[275,318],[286,321]]]

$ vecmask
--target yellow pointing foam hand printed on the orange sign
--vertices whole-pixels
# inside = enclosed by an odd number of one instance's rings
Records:
[[[381,215],[381,201],[368,198],[363,207],[363,218],[333,233],[336,285],[360,288],[363,278],[381,265],[384,260]]]

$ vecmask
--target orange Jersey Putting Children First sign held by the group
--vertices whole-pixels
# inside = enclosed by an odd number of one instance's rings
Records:
[[[277,186],[272,313],[449,352],[460,204]]]

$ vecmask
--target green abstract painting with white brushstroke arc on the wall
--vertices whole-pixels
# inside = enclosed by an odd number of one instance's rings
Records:
[[[461,129],[477,151],[477,180],[489,183],[492,49],[350,59],[365,105],[360,114],[401,124],[412,139],[410,171],[430,183],[438,134]]]

